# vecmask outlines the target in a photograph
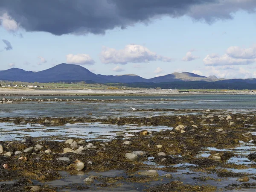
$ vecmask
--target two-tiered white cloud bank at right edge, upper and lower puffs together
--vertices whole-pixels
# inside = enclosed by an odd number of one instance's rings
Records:
[[[227,49],[226,54],[210,54],[203,61],[208,66],[252,64],[256,62],[256,47],[244,49],[232,46]]]

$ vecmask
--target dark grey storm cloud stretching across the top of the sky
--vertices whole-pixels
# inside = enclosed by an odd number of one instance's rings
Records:
[[[241,9],[253,12],[255,6],[256,0],[0,0],[0,14],[7,12],[26,31],[84,35],[149,23],[163,15],[211,23]]]

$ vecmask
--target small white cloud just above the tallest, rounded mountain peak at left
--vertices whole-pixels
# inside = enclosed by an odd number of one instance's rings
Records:
[[[78,65],[93,65],[95,61],[88,54],[68,54],[66,55],[67,63]]]

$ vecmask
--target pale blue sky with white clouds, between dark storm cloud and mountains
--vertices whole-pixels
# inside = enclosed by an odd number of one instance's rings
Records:
[[[73,63],[103,75],[134,73],[152,78],[193,72],[219,78],[256,78],[256,14],[237,9],[231,15],[231,19],[214,22],[198,20],[197,15],[154,15],[147,24],[133,22],[125,29],[116,26],[105,29],[105,34],[55,35],[27,29],[7,8],[0,9],[0,70],[41,71]],[[9,47],[2,40],[8,41]],[[132,49],[135,53],[128,53]]]

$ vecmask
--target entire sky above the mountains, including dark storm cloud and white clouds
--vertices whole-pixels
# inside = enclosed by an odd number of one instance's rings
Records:
[[[1,0],[0,70],[256,78],[256,0]]]

